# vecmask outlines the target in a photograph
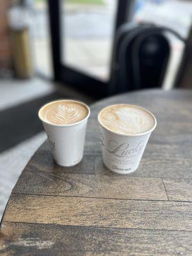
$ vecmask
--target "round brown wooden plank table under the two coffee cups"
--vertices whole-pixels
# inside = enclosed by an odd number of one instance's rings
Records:
[[[157,117],[136,172],[102,164],[97,113],[127,102]],[[192,255],[192,92],[145,90],[92,106],[83,161],[56,166],[45,142],[1,224],[1,255]],[[6,172],[6,170],[4,170]]]

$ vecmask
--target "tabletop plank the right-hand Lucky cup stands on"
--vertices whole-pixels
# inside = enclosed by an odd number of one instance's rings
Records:
[[[192,179],[191,149],[184,145],[148,143],[138,170],[129,176]],[[95,174],[114,175],[102,163],[102,156],[95,157]]]

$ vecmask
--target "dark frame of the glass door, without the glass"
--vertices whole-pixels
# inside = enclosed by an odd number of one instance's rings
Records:
[[[129,20],[134,0],[116,0],[117,10],[115,18],[115,29],[113,33],[111,60],[113,56],[114,42],[117,29]],[[109,81],[103,82],[99,79],[84,74],[76,68],[68,67],[61,63],[61,17],[60,17],[60,0],[47,0],[49,10],[49,22],[51,32],[51,51],[52,51],[52,65],[54,71],[54,81],[60,81],[63,84],[68,84],[77,90],[81,90],[99,99],[107,96],[109,93]],[[65,52],[63,53],[65,54]],[[111,65],[110,65],[111,67]],[[111,77],[111,70],[109,77]]]

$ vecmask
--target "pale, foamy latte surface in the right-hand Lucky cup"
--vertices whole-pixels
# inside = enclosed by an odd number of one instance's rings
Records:
[[[116,104],[99,113],[99,122],[106,129],[119,134],[141,134],[156,124],[156,119],[147,110],[131,104]]]

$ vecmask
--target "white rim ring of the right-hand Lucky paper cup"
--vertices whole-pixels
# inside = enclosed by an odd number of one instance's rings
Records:
[[[113,106],[120,106],[120,105],[127,105],[127,106],[139,108],[139,109],[142,109],[142,110],[146,111],[148,114],[150,114],[150,115],[152,116],[152,118],[154,118],[154,125],[153,125],[153,127],[150,128],[150,129],[149,129],[148,131],[146,131],[146,132],[137,133],[137,134],[125,134],[125,133],[121,133],[121,132],[115,132],[115,131],[109,129],[108,127],[106,127],[104,124],[102,124],[102,122],[100,121],[100,114],[102,113],[102,111],[104,111],[104,109],[111,108],[111,107],[113,107]],[[102,108],[102,109],[99,111],[99,114],[98,114],[98,116],[97,116],[97,120],[98,120],[99,124],[100,124],[102,127],[104,127],[104,129],[106,129],[107,131],[112,132],[113,134],[120,135],[120,136],[125,136],[125,137],[138,137],[138,136],[143,136],[143,135],[145,135],[145,134],[148,134],[148,133],[151,133],[152,131],[154,131],[154,129],[156,129],[156,126],[157,126],[156,117],[155,117],[150,111],[148,111],[148,109],[142,108],[141,106],[138,106],[138,105],[135,105],[135,104],[128,104],[128,103],[113,104],[113,105],[106,106],[105,108]]]

